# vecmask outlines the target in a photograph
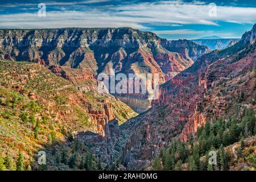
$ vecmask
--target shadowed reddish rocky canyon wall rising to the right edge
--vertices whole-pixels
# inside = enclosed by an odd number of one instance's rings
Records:
[[[253,32],[232,47],[201,56],[160,86],[160,96],[150,110],[121,126],[121,136],[129,138],[120,142],[128,150],[122,156],[128,169],[149,167],[164,144],[175,137],[186,141],[207,120],[229,115],[235,103],[255,109],[251,102],[255,95]]]

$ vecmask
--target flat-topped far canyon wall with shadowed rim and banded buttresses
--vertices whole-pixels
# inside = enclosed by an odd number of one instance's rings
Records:
[[[0,57],[3,59],[34,61],[49,68],[60,65],[65,69],[81,69],[86,77],[100,73],[110,75],[113,69],[115,73],[126,75],[159,73],[162,84],[207,52],[207,47],[188,40],[170,42],[133,28],[0,30]],[[69,73],[71,71],[69,69]],[[63,71],[59,74],[67,77]],[[74,79],[79,80],[79,76]],[[85,86],[80,85],[80,88],[86,90]],[[128,98],[127,104],[139,112],[148,108],[147,97],[143,97],[147,101],[142,102],[145,105],[141,108],[133,105],[139,98],[129,97],[127,94],[119,96],[123,101]]]

